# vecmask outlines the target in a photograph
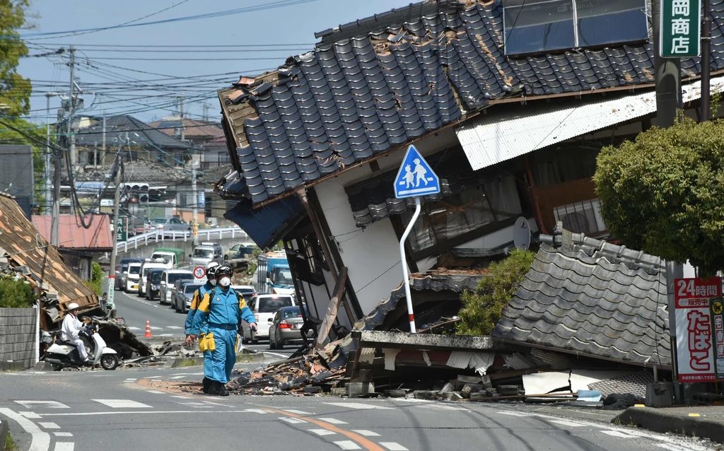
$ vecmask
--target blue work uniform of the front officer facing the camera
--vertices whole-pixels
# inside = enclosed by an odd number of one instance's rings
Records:
[[[216,347],[211,352],[211,375],[206,376],[209,379],[222,384],[229,382],[236,363],[236,335],[241,320],[249,324],[256,322],[244,298],[232,288],[224,292],[221,287],[216,287],[207,292],[198,305],[191,334],[198,335],[202,324],[208,323]]]

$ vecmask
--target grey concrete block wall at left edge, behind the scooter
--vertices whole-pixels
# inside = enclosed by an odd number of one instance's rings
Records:
[[[0,308],[0,362],[35,365],[35,308]]]

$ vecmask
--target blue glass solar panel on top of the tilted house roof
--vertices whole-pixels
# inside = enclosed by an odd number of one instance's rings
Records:
[[[644,41],[646,0],[503,0],[505,54]]]

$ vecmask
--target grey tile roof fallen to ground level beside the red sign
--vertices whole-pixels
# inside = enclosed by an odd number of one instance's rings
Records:
[[[665,262],[565,230],[555,243],[541,245],[491,337],[670,367]]]

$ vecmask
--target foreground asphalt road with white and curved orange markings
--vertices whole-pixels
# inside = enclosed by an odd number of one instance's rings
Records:
[[[200,369],[0,374],[0,418],[23,451],[710,449],[516,404],[173,392]]]

